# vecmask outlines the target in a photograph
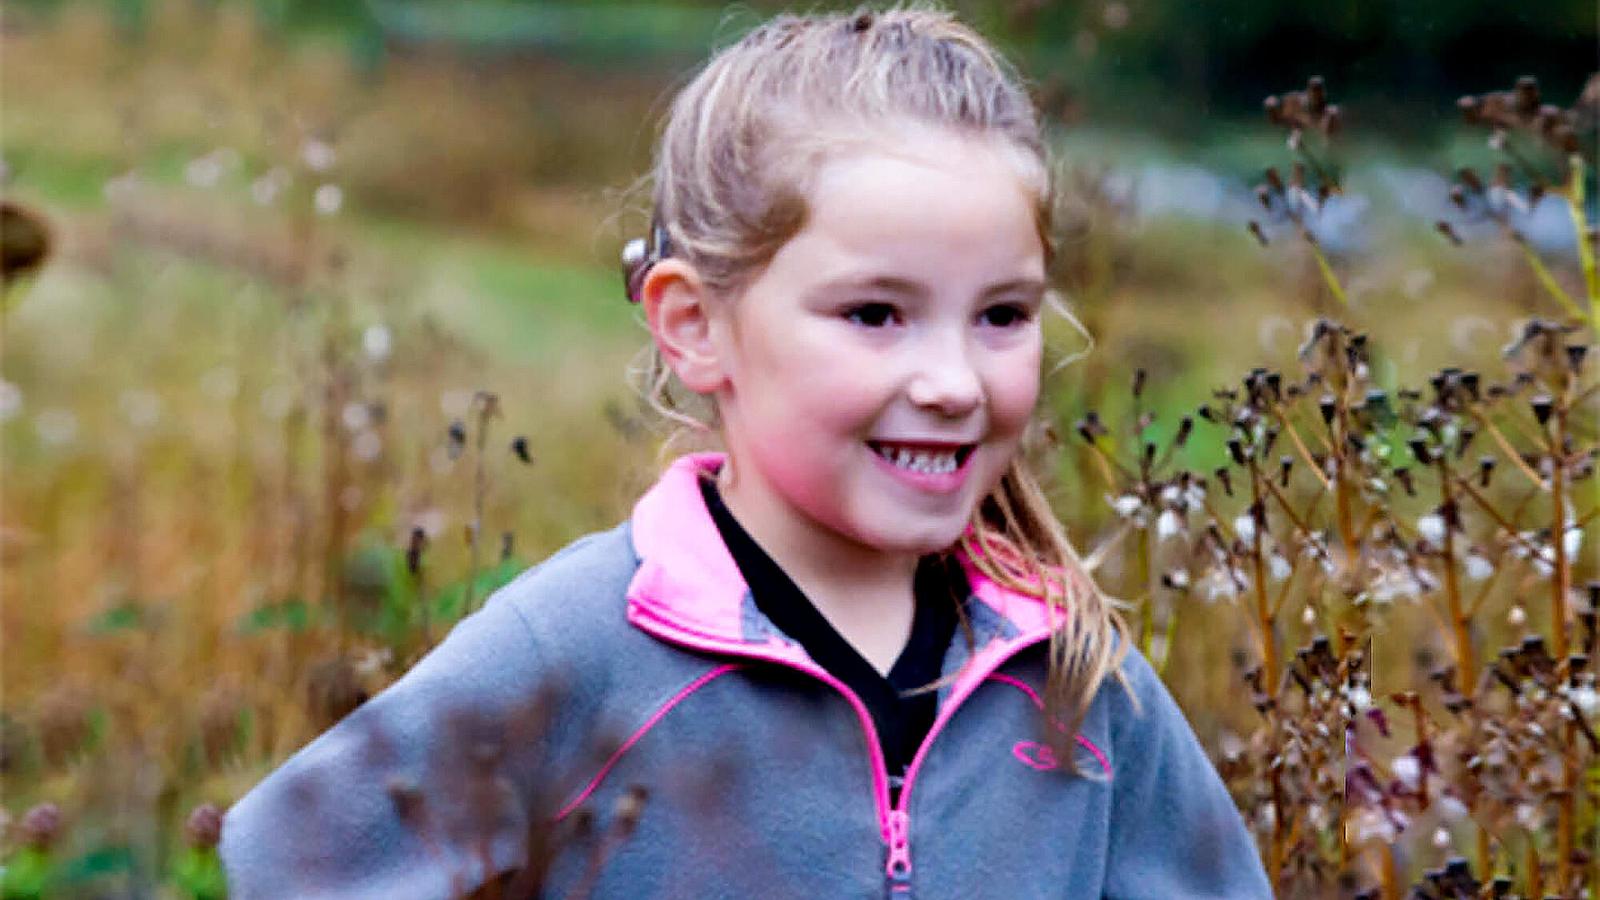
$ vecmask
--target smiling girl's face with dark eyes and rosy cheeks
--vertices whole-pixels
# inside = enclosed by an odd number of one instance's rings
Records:
[[[830,159],[808,210],[718,330],[730,506],[763,541],[949,548],[1038,399],[1034,197],[1000,144],[930,130]]]

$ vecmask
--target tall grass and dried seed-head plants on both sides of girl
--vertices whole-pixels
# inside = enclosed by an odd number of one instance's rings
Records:
[[[219,809],[654,476],[605,186],[659,86],[371,80],[160,10],[144,45],[83,10],[0,38],[6,197],[56,237],[0,359],[18,890],[218,890]],[[1544,282],[1592,311],[1582,264],[1426,221],[1262,250],[1074,165],[1058,274],[1096,349],[1032,453],[1283,895],[1576,895],[1595,362]],[[1278,181],[1262,215],[1317,200]]]

